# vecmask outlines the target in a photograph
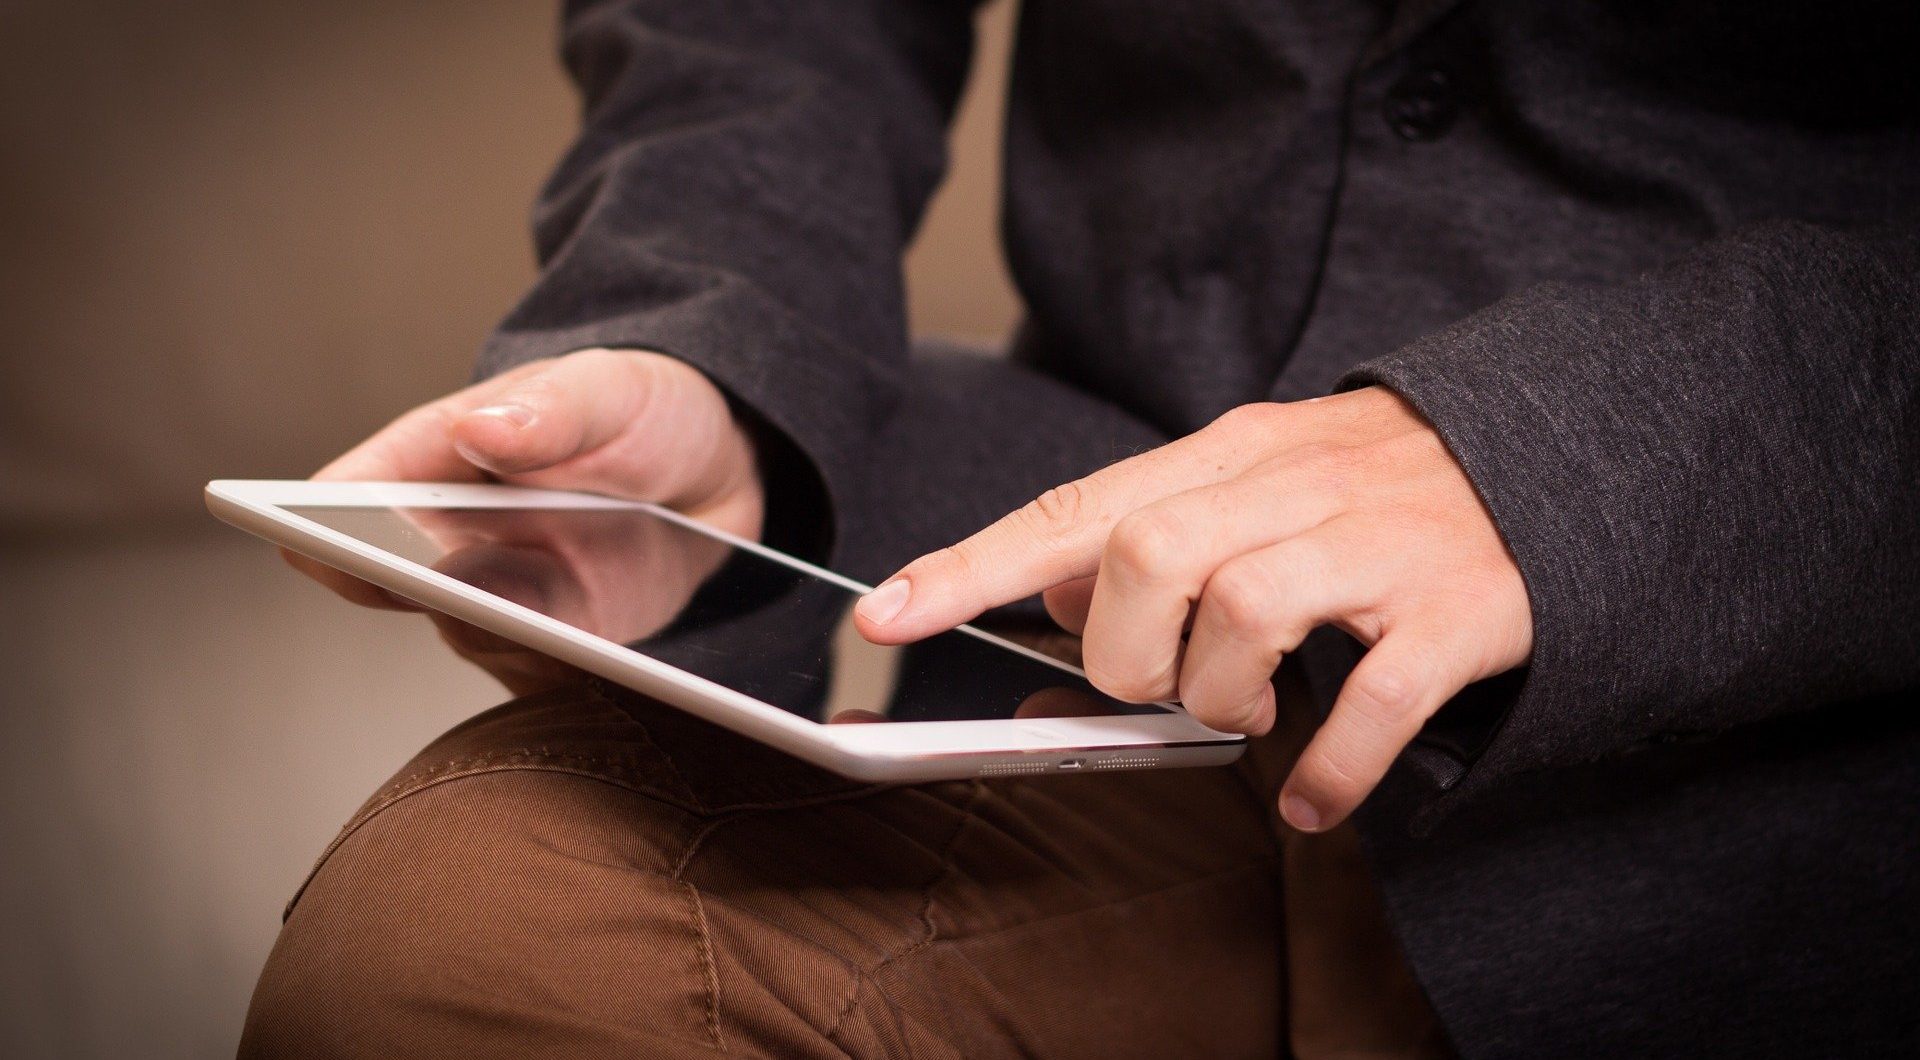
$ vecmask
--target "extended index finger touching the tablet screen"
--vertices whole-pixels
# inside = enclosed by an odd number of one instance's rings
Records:
[[[972,538],[924,555],[862,597],[860,636],[906,643],[989,607],[1087,578],[1121,517],[1196,482],[1238,474],[1256,459],[1246,438],[1213,426],[1056,486]]]

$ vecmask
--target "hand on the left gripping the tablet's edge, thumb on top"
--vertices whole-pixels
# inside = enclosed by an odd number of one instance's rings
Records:
[[[582,349],[520,365],[428,401],[313,478],[480,482],[657,501],[743,538],[760,536],[753,440],[693,367],[637,349]],[[288,563],[369,607],[413,605],[323,563]]]

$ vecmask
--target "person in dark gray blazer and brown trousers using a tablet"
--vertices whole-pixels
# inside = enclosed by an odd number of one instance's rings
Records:
[[[662,501],[883,643],[1041,593],[1267,735],[874,789],[549,687],[349,822],[242,1052],[1920,1048],[1907,6],[1023,4],[1027,319],[910,357],[970,19],[568,4],[540,280],[321,476]]]

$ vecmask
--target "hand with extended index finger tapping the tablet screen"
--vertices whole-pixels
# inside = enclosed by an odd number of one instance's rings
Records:
[[[1096,687],[1177,697],[1225,732],[1273,726],[1273,672],[1313,628],[1365,643],[1281,793],[1304,831],[1344,820],[1442,703],[1532,651],[1526,586],[1492,517],[1432,426],[1382,388],[1244,405],[1048,490],[906,565],[856,622],[902,643],[1043,590],[1083,634]]]

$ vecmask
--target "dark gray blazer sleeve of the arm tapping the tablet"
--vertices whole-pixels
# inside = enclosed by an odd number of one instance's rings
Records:
[[[1920,684],[1916,307],[1916,227],[1766,223],[1342,382],[1432,421],[1532,601],[1532,659],[1440,805]]]

